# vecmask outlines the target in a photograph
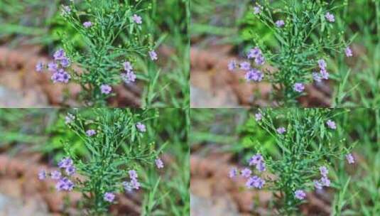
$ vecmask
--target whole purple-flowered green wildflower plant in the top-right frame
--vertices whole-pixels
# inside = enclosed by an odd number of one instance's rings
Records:
[[[281,7],[276,7],[268,0],[256,1],[252,13],[273,33],[278,48],[267,48],[261,37],[251,31],[255,46],[246,54],[247,60],[232,60],[229,70],[243,70],[247,82],[270,82],[280,105],[294,105],[298,97],[305,95],[306,84],[329,80],[330,55],[352,56],[349,42],[335,25],[335,11],[347,2],[337,6],[333,3],[292,0],[281,1]]]

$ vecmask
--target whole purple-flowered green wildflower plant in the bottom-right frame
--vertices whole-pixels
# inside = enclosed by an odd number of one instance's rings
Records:
[[[271,190],[278,213],[294,214],[307,192],[335,186],[329,172],[333,161],[354,163],[350,153],[354,144],[334,139],[337,130],[342,130],[335,123],[337,115],[328,109],[260,110],[254,118],[273,136],[278,153],[273,155],[257,146],[248,166],[240,172],[232,168],[229,177],[240,174],[246,179],[246,188]]]

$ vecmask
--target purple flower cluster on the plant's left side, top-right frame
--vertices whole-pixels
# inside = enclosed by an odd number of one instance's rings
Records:
[[[255,64],[257,67],[260,67],[261,65],[264,65],[265,63],[265,58],[264,55],[261,53],[261,50],[258,47],[255,47],[251,50],[249,50],[249,53],[246,55],[248,60],[253,60],[252,64]],[[232,60],[228,64],[228,69],[230,71],[233,71],[237,68],[237,61]],[[244,70],[246,72],[245,74],[245,79],[247,82],[249,81],[255,81],[255,82],[260,82],[261,80],[264,79],[264,73],[261,72],[257,68],[252,68],[251,63],[249,62],[241,62],[239,64],[239,68],[241,70]]]

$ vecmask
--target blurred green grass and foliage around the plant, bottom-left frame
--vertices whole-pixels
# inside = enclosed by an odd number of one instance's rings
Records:
[[[56,166],[65,156],[63,141],[67,141],[77,155],[85,158],[87,151],[82,140],[65,124],[67,112],[70,109],[0,109],[0,152],[14,155],[21,150],[36,151],[51,166]],[[83,117],[94,118],[93,109],[79,112]],[[155,140],[158,148],[165,144],[163,156],[170,162],[159,170],[159,175],[153,170],[140,173],[146,188],[152,188],[144,193],[141,209],[143,215],[189,215],[189,110],[173,108],[157,112],[158,118],[147,123],[147,140]]]

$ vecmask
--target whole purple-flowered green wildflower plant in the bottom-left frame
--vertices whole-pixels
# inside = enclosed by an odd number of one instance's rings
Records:
[[[134,193],[144,188],[139,173],[148,168],[164,168],[156,150],[148,141],[148,122],[157,117],[154,110],[136,112],[131,109],[93,109],[89,119],[76,111],[68,113],[65,123],[82,139],[87,156],[75,154],[64,142],[66,156],[58,169],[40,171],[38,178],[55,180],[58,191],[82,193],[87,215],[104,215],[109,205],[117,202],[118,193]]]

